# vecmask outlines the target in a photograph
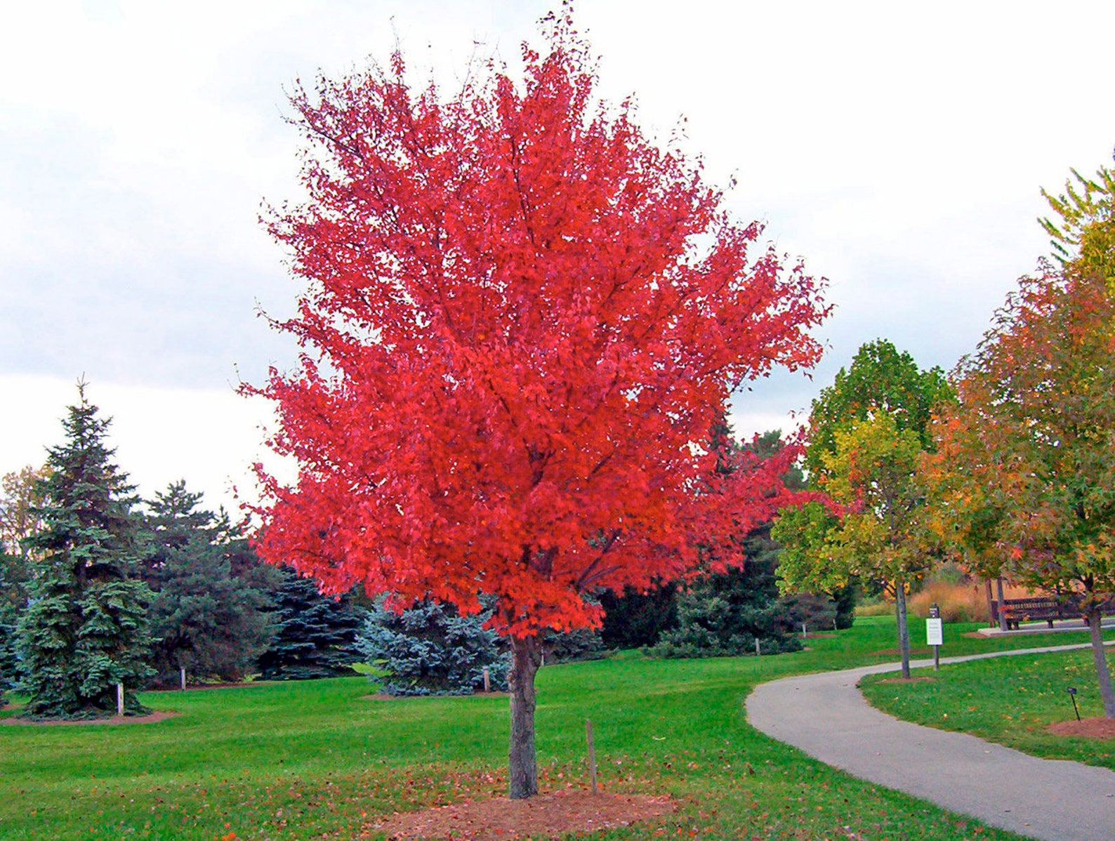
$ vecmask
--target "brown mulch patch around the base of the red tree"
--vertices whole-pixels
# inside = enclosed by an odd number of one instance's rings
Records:
[[[375,829],[389,839],[471,839],[496,841],[626,826],[672,812],[667,796],[565,791],[526,800],[492,798],[471,803],[405,812],[384,819]]]

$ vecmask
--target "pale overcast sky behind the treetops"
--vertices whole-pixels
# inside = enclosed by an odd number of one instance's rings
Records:
[[[265,417],[233,393],[288,340],[299,291],[258,223],[298,196],[284,89],[386,58],[453,78],[475,41],[508,62],[537,42],[536,0],[88,0],[12,3],[0,32],[0,473],[62,438],[75,380],[115,417],[149,495],[185,477],[216,505],[246,492]],[[735,213],[830,279],[813,380],[735,404],[737,432],[787,427],[856,348],[922,366],[970,351],[1047,253],[1039,188],[1112,162],[1103,2],[580,0],[601,90],[634,94]]]

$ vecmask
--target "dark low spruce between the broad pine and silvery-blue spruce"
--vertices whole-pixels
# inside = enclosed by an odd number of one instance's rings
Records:
[[[361,615],[348,596],[322,596],[318,586],[293,570],[281,570],[271,594],[274,636],[260,656],[265,680],[303,680],[352,675]]]

